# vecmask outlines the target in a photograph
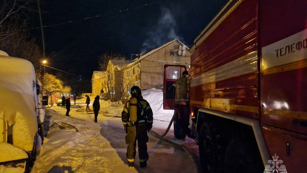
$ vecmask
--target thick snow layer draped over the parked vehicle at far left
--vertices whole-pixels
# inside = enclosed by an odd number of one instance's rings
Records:
[[[25,151],[32,150],[37,132],[33,81],[36,77],[31,62],[0,55],[0,119],[13,125],[13,145]]]

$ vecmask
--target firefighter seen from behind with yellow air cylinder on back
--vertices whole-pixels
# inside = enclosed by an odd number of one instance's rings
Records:
[[[136,141],[138,140],[138,153],[140,167],[146,167],[149,156],[147,153],[147,142],[149,132],[153,124],[153,112],[149,103],[143,99],[141,89],[132,86],[130,89],[131,98],[125,104],[122,111],[122,123],[127,133],[127,161],[128,166],[133,167],[135,158]]]

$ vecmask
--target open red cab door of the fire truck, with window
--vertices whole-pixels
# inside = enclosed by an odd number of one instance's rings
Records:
[[[187,70],[184,65],[164,65],[163,109],[177,110],[175,103],[176,88],[174,83]]]

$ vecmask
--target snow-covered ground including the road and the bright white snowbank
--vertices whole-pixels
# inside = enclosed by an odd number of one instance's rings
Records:
[[[163,110],[163,92],[157,89],[142,91],[153,110],[153,128],[158,134],[163,134],[173,116],[173,111]],[[91,99],[91,103],[94,99]],[[85,112],[85,99],[77,100],[71,107],[71,117],[64,116],[66,109],[52,107],[46,117],[51,125],[41,153],[32,169],[38,172],[196,172],[196,167],[186,152],[168,143],[150,136],[148,150],[150,159],[148,168],[140,169],[138,160],[136,167],[126,166],[126,144],[124,142],[120,118],[123,105],[100,101],[98,123],[94,123],[93,112]],[[89,105],[92,109],[92,104]],[[103,116],[105,115],[105,116]],[[79,132],[59,130],[54,122],[64,121],[76,126]],[[48,120],[47,120],[48,122]],[[165,139],[188,148],[197,162],[198,146],[186,137],[176,139],[173,135],[173,125]],[[138,156],[137,156],[138,157]],[[194,160],[195,161],[195,160]],[[159,168],[157,168],[159,167]],[[161,169],[162,168],[162,169]]]

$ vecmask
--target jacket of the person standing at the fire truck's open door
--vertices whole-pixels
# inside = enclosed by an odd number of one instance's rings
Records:
[[[188,88],[190,87],[188,75],[184,74],[175,82],[174,86],[176,87],[175,103],[179,105],[187,105],[189,101]]]

